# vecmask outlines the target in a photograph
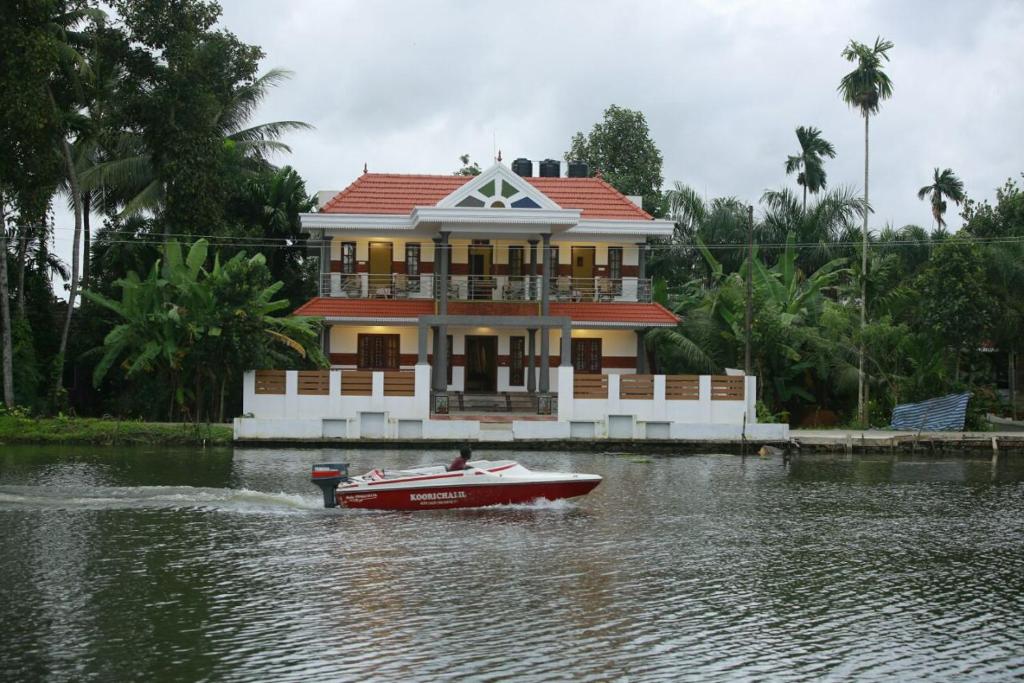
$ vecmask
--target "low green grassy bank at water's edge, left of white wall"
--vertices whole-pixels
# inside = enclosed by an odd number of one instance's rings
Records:
[[[0,416],[0,443],[230,445],[229,425]]]

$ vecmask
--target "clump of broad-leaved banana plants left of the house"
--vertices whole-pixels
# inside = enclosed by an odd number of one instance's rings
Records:
[[[245,370],[295,364],[303,358],[326,365],[317,346],[318,325],[307,317],[280,317],[288,307],[275,299],[282,283],[270,284],[261,254],[236,254],[205,267],[209,245],[197,241],[182,253],[170,242],[142,279],[135,272],[116,284],[121,299],[86,292],[114,312],[118,324],[103,340],[93,372],[99,384],[115,364],[130,380],[151,375],[166,381],[167,400],[197,421],[210,417],[225,385]]]

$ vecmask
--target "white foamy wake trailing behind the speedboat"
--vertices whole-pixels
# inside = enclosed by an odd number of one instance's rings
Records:
[[[0,486],[0,510],[128,510],[158,508],[242,513],[321,510],[314,496],[197,486]]]

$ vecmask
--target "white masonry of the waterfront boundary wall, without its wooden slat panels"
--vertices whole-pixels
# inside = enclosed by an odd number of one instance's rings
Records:
[[[257,394],[250,371],[243,383],[244,417],[234,420],[237,439],[382,438],[416,440],[788,438],[788,427],[757,423],[757,379],[746,377],[742,400],[712,400],[712,378],[699,379],[697,400],[667,400],[664,375],[654,376],[652,399],[622,399],[620,375],[607,375],[607,398],[574,398],[573,370],[555,369],[558,420],[514,420],[509,427],[480,429],[476,420],[430,419],[430,366],[416,366],[414,396],[385,396],[384,374],[375,372],[370,396],[341,394],[341,373],[330,371],[328,395],[300,395],[298,372],[285,374],[284,394]],[[509,430],[510,433],[509,433]],[[499,433],[501,432],[501,433]]]

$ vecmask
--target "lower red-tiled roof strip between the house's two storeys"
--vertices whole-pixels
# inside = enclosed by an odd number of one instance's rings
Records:
[[[459,302],[452,302],[451,312],[453,315],[473,314],[474,312],[480,314],[483,312],[479,308],[482,303],[473,302],[472,304],[462,306]],[[505,305],[516,306],[521,304]],[[468,306],[475,307],[469,308]],[[534,306],[537,306],[537,304],[534,304]],[[512,312],[522,314],[524,311],[515,310]],[[295,310],[296,315],[366,318],[368,322],[385,318],[415,318],[420,315],[433,315],[433,313],[434,302],[430,299],[403,299],[394,301],[388,299],[317,297],[310,299]],[[553,301],[551,302],[551,314],[568,315],[575,323],[614,323],[636,327],[673,326],[679,322],[675,315],[658,303],[556,303]]]

